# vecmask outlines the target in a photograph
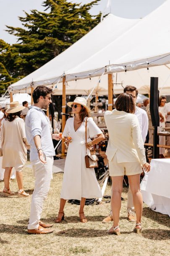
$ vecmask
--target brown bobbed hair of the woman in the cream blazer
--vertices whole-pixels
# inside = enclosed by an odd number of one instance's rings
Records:
[[[135,113],[135,103],[131,94],[121,93],[116,102],[115,108],[118,111],[125,111],[126,113]]]

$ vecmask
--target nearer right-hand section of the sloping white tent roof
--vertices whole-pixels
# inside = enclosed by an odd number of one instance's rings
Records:
[[[170,63],[170,0],[141,19],[122,36],[69,70],[67,81],[101,75],[110,62],[109,72],[137,70]],[[108,71],[108,70],[107,70]]]

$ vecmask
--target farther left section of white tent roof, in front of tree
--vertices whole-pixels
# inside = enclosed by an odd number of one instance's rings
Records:
[[[140,19],[124,19],[109,14],[94,29],[67,50],[8,88],[10,91],[12,91],[12,88],[13,91],[29,88],[32,81],[35,86],[57,83],[64,72],[66,73],[84,62],[138,22],[140,22]]]

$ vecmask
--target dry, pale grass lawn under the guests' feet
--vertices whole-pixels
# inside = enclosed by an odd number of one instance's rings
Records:
[[[120,236],[107,234],[110,224],[102,224],[110,212],[110,203],[85,206],[88,222],[79,221],[78,205],[65,205],[65,220],[54,223],[60,202],[63,174],[53,174],[51,189],[44,203],[42,221],[54,224],[55,231],[46,235],[28,235],[27,224],[31,196],[29,198],[2,197],[0,193],[0,256],[169,256],[170,218],[156,213],[144,205],[142,234],[133,233],[134,223],[127,220],[127,189],[123,189],[120,213]],[[16,180],[10,184],[17,191]],[[34,177],[32,170],[24,169],[24,188],[32,194]],[[110,194],[110,184],[105,194]],[[3,182],[0,182],[0,191]]]

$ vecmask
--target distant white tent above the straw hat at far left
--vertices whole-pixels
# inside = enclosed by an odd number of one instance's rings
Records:
[[[23,101],[27,101],[31,105],[31,96],[28,93],[16,93],[13,94],[13,101],[19,101],[19,104],[22,105]],[[1,108],[5,107],[6,104],[10,103],[10,98],[1,97],[0,106]]]

